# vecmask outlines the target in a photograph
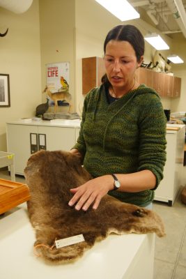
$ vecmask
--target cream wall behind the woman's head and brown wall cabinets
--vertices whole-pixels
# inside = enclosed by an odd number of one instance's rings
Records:
[[[75,1],[75,26],[76,26],[76,98],[77,112],[82,112],[84,97],[82,96],[82,58],[90,56],[102,57],[104,38],[108,31],[118,24],[123,24],[114,15],[102,8],[94,0]],[[130,20],[125,24],[134,24],[145,36],[148,31],[155,32],[154,27],[150,27],[143,20]],[[171,38],[164,36],[166,42],[172,45]],[[161,52],[166,56],[167,52]],[[144,62],[149,63],[153,59],[155,49],[145,42]],[[169,98],[162,98],[164,108],[171,107]]]

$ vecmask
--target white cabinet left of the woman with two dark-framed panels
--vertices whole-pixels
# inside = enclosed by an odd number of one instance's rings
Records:
[[[34,121],[33,121],[34,122]],[[15,121],[6,124],[7,148],[15,154],[15,174],[24,174],[26,162],[40,149],[69,151],[79,135],[79,126],[52,126]]]

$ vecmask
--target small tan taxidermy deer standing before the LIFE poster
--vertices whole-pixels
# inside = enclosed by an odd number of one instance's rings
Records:
[[[43,93],[47,93],[47,95],[49,96],[49,98],[51,98],[54,101],[54,112],[57,111],[58,108],[58,100],[66,100],[69,103],[69,110],[68,112],[70,112],[71,110],[71,98],[72,96],[70,95],[69,91],[68,91],[68,86],[65,86],[64,88],[61,87],[60,91],[58,92],[54,92],[52,93],[49,88],[46,86],[45,90],[43,91]]]

